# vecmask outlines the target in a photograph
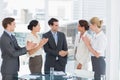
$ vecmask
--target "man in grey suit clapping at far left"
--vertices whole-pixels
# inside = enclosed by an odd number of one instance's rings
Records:
[[[19,47],[16,38],[12,35],[15,29],[15,19],[4,18],[2,21],[4,32],[0,38],[2,52],[1,74],[2,80],[18,80],[19,56],[36,47],[36,44],[27,42],[26,47]]]

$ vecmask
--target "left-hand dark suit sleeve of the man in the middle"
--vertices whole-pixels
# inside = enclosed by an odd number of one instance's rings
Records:
[[[48,38],[45,34],[43,34],[42,36],[43,38]],[[47,54],[50,54],[50,55],[53,55],[53,56],[58,56],[59,55],[59,51],[58,50],[54,50],[54,49],[51,49],[49,47],[49,41],[44,45],[44,51],[47,53]]]

